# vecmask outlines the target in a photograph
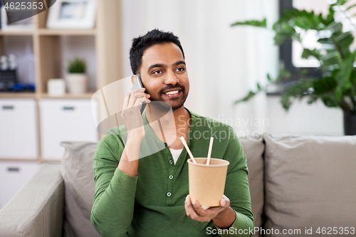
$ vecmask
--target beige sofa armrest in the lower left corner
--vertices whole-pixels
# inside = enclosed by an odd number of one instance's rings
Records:
[[[62,236],[64,184],[60,164],[41,164],[0,210],[0,236]]]

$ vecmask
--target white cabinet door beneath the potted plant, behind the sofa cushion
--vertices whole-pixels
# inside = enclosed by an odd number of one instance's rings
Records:
[[[96,100],[40,101],[42,158],[59,160],[63,141],[98,141],[94,116],[98,116]]]

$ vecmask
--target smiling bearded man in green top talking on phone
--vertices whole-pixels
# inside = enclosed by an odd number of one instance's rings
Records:
[[[125,95],[126,132],[122,126],[113,128],[95,151],[91,213],[95,229],[101,236],[251,236],[246,231],[253,228],[253,214],[244,150],[231,127],[184,107],[189,79],[177,36],[155,29],[135,38],[130,63],[144,88]],[[174,120],[159,120],[167,125],[173,122],[174,131],[162,132],[164,125],[150,119],[149,112],[141,117],[141,102],[170,105]],[[189,156],[179,137],[185,137],[194,157],[206,157],[211,136],[215,137],[211,157],[230,164],[226,196],[220,206],[204,210],[189,198]],[[139,159],[152,141],[163,148]]]

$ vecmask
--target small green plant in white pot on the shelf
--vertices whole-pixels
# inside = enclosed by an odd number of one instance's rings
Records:
[[[69,93],[86,93],[88,76],[85,74],[85,67],[85,59],[74,58],[73,60],[68,60],[66,80]]]

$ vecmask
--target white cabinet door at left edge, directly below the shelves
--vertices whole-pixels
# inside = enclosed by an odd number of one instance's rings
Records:
[[[0,99],[0,158],[38,158],[36,100]]]

